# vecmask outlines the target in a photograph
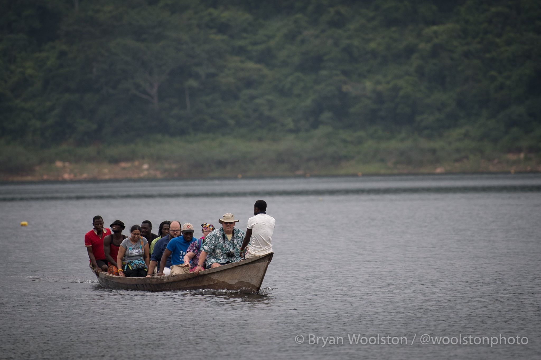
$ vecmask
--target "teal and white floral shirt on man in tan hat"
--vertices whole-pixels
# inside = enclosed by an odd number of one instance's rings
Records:
[[[233,228],[231,240],[227,240],[223,228],[218,228],[209,233],[201,246],[201,250],[207,253],[207,268],[210,268],[215,262],[235,262],[242,260],[240,256],[240,247],[245,237],[245,232],[241,229]],[[228,257],[229,250],[233,250],[235,256]]]

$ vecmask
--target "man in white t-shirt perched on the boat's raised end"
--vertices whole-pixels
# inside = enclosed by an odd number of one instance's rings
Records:
[[[246,252],[246,259],[272,253],[272,233],[276,220],[266,214],[267,203],[258,200],[254,204],[254,216],[248,219],[246,236],[240,247],[241,254]],[[248,246],[248,243],[250,246]],[[248,248],[246,248],[248,246]]]

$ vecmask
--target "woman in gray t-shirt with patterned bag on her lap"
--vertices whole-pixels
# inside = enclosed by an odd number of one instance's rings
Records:
[[[118,248],[116,263],[122,266],[118,269],[118,275],[130,277],[147,276],[150,255],[148,253],[148,241],[141,236],[141,227],[134,225],[130,229],[130,237],[127,237]]]

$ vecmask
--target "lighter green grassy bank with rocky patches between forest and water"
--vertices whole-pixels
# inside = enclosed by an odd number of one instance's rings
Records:
[[[2,181],[254,178],[261,176],[541,172],[527,138],[514,146],[467,138],[320,128],[304,134],[182,138],[32,149],[0,143]],[[535,138],[531,139],[532,141]],[[526,142],[524,142],[526,141]],[[514,151],[509,151],[509,148]]]

